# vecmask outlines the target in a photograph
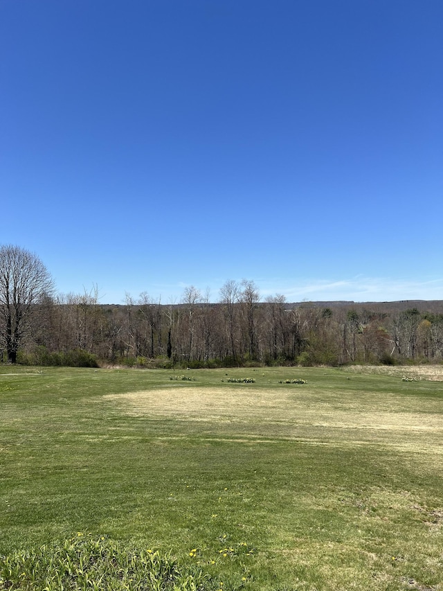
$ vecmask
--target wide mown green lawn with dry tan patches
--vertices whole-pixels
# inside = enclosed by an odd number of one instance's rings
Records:
[[[225,590],[443,590],[443,376],[410,371],[0,367],[0,554],[107,536]]]

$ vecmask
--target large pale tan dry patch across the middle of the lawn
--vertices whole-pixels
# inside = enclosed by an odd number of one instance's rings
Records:
[[[443,416],[433,412],[408,409],[404,397],[382,395],[356,399],[347,404],[336,393],[316,394],[313,387],[294,392],[287,389],[252,389],[229,387],[171,387],[113,394],[105,400],[118,405],[132,416],[174,418],[214,425],[243,423],[242,433],[235,434],[257,441],[297,439],[353,445],[377,443],[410,451],[443,455]],[[434,408],[435,401],[429,401]],[[257,437],[257,425],[260,435]],[[225,434],[225,436],[227,433]],[[228,438],[230,439],[230,438]],[[249,439],[249,440],[251,440]]]

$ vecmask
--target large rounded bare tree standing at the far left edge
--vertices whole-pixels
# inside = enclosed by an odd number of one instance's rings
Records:
[[[35,254],[18,246],[0,247],[0,339],[9,362],[17,362],[33,307],[53,289],[51,275]]]

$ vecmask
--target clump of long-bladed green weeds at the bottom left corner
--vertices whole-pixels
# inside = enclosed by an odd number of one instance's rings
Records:
[[[210,591],[219,580],[170,554],[81,532],[63,543],[0,556],[0,590]]]

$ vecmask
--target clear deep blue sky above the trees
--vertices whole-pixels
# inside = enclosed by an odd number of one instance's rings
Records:
[[[0,244],[100,301],[443,299],[441,0],[0,0]]]

